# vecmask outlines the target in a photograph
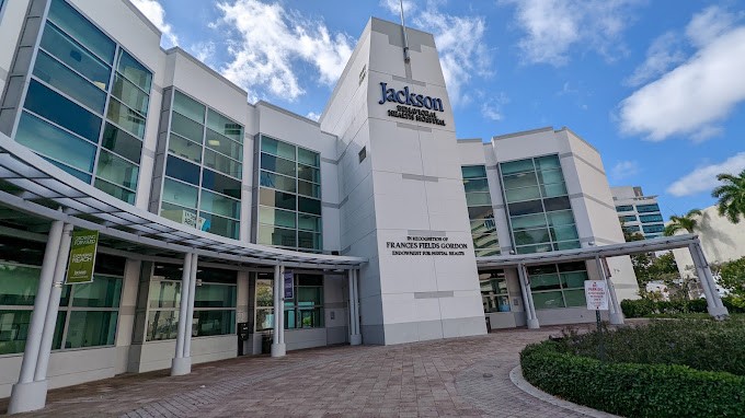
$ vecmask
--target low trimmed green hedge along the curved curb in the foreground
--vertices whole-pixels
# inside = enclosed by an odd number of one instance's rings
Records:
[[[545,341],[520,352],[525,379],[591,408],[627,417],[743,417],[745,378],[677,364],[611,363]]]

